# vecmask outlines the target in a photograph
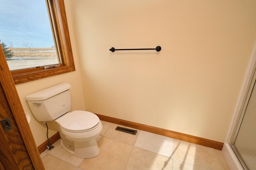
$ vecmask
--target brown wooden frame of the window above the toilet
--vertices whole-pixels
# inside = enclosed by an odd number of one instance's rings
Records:
[[[34,69],[13,70],[12,78],[15,84],[25,83],[37,79],[59,75],[75,71],[74,58],[71,48],[70,36],[68,32],[68,22],[64,0],[48,0],[49,8],[51,8],[51,20],[55,34],[58,54],[62,60],[59,67],[44,69],[44,67]]]

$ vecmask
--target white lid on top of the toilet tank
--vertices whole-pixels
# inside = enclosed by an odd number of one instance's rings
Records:
[[[44,89],[42,91],[38,91],[36,93],[33,93],[31,95],[26,96],[27,101],[41,101],[48,99],[54,95],[57,95],[59,93],[62,93],[63,91],[66,91],[70,89],[70,84],[68,83],[61,83],[59,85],[50,87],[48,89]]]

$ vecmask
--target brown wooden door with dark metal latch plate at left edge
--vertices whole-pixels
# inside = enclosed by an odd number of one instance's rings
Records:
[[[44,165],[24,114],[12,75],[0,45],[0,169],[44,170]],[[12,125],[12,128],[11,126]],[[4,127],[10,130],[7,132]]]

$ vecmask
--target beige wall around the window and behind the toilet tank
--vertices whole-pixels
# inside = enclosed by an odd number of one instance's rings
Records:
[[[16,89],[18,91],[18,95],[20,97],[24,111],[28,113],[31,117],[31,121],[29,125],[37,146],[39,146],[40,144],[42,144],[47,140],[46,125],[42,122],[38,122],[34,118],[26,102],[26,95],[57,85],[59,83],[66,82],[71,85],[71,97],[72,97],[71,110],[85,110],[84,96],[82,95],[82,83],[81,83],[81,77],[80,77],[80,64],[79,64],[80,61],[79,61],[77,44],[76,44],[76,36],[74,32],[75,30],[72,24],[72,19],[70,18],[70,10],[68,8],[69,6],[68,4],[69,4],[68,1],[65,1],[65,5],[67,6],[66,13],[67,13],[68,27],[69,27],[70,39],[72,43],[72,51],[74,55],[76,71],[16,85]],[[57,123],[48,122],[47,125],[49,127],[49,132],[48,132],[49,137],[51,137],[53,134],[58,132]]]

